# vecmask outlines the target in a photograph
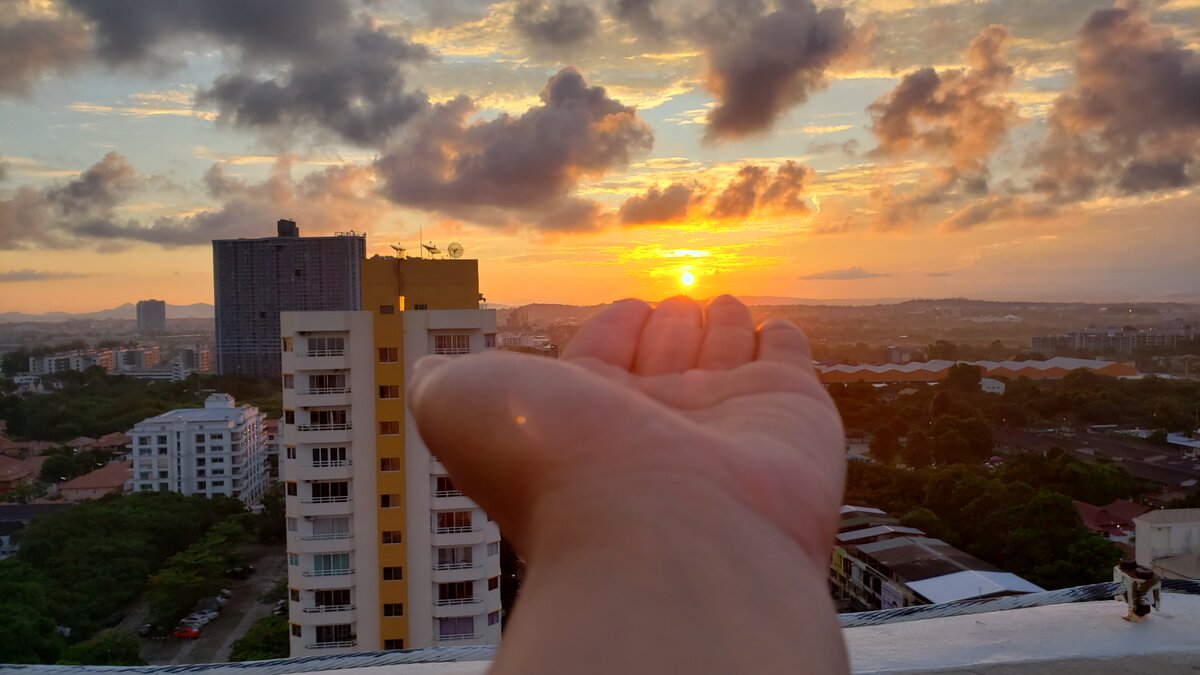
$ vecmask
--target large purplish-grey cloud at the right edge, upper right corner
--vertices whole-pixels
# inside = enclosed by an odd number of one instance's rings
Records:
[[[1036,187],[1056,201],[1184,187],[1200,175],[1198,154],[1200,52],[1135,4],[1093,12],[1036,156]]]

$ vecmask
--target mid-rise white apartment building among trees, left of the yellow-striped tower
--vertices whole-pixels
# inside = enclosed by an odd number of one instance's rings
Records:
[[[128,436],[127,491],[226,495],[248,506],[266,490],[263,416],[229,394],[143,419]]]

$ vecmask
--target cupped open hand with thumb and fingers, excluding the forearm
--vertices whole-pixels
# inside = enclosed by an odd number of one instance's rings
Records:
[[[803,334],[730,297],[617,303],[562,360],[422,362],[422,437],[517,546],[545,504],[730,497],[827,565],[845,471]],[[602,508],[602,507],[598,507]]]

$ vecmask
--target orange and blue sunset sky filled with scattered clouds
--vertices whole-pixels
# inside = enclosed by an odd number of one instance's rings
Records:
[[[0,0],[0,311],[420,232],[488,300],[1200,301],[1200,0]]]

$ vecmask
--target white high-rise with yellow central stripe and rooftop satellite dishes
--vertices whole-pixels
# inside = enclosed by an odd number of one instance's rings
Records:
[[[292,656],[499,641],[499,530],[404,402],[416,359],[496,347],[479,303],[476,261],[374,257],[362,311],[283,312]]]

